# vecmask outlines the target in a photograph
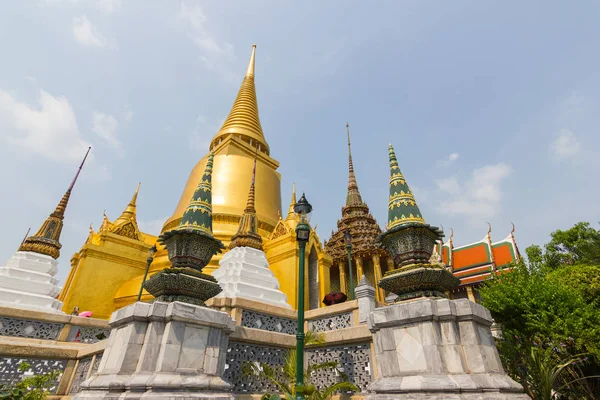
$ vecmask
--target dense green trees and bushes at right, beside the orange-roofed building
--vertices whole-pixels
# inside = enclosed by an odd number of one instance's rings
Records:
[[[530,395],[552,398],[550,385],[563,398],[595,398],[599,382],[581,378],[600,372],[600,231],[578,223],[550,236],[480,289],[483,305],[502,327],[508,373]]]

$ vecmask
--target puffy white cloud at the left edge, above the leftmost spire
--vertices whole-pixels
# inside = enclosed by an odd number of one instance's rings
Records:
[[[39,103],[30,106],[0,90],[0,125],[16,130],[6,141],[50,160],[81,160],[89,144],[80,135],[69,101],[40,90]]]

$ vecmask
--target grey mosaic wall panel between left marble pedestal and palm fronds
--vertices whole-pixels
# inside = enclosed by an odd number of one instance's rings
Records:
[[[271,366],[283,365],[286,349],[280,347],[257,346],[240,342],[229,342],[224,379],[233,384],[234,393],[276,393],[277,387],[255,375],[244,376],[246,362],[265,363]]]

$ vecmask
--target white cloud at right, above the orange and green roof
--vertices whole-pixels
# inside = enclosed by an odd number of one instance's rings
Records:
[[[445,194],[439,211],[478,220],[494,216],[502,200],[501,185],[511,171],[509,165],[499,163],[473,170],[464,185],[456,178],[437,181],[438,189]]]

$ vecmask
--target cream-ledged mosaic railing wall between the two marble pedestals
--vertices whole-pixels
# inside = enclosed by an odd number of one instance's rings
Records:
[[[287,350],[296,346],[296,311],[265,307],[263,303],[241,298],[215,298],[208,305],[227,312],[236,321],[236,330],[229,341],[225,379],[234,385],[237,398],[274,391],[272,383],[244,376],[242,368],[247,362],[271,366],[284,363]],[[362,391],[366,390],[375,377],[375,364],[371,333],[366,323],[360,322],[358,300],[306,311],[304,329],[322,333],[327,343],[307,347],[306,363],[338,361],[339,371]],[[320,388],[338,381],[339,375],[331,369],[321,370],[312,379]]]

